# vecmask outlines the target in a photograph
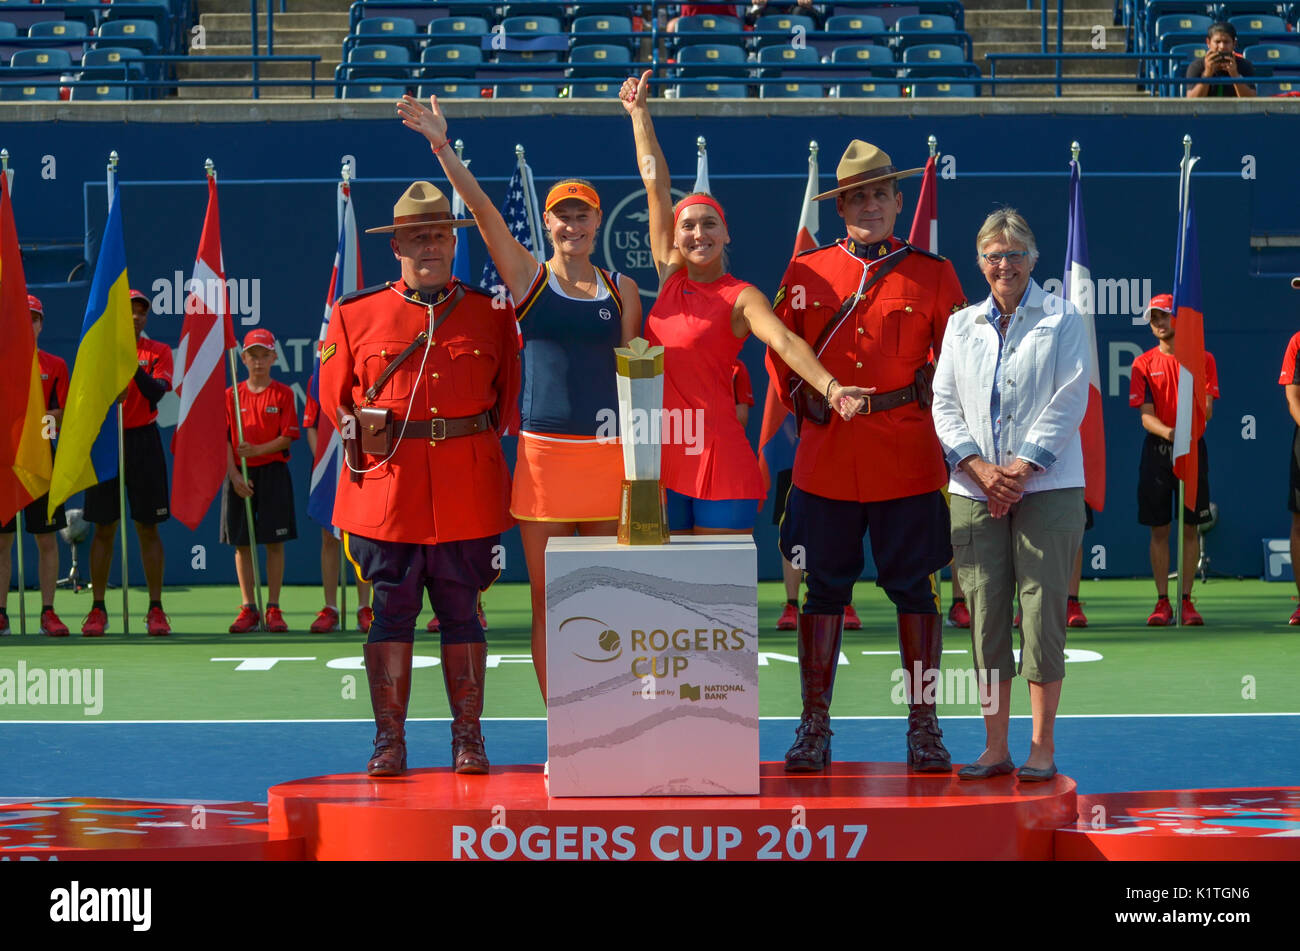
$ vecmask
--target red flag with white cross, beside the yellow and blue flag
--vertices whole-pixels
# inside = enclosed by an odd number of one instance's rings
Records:
[[[199,527],[226,477],[225,370],[221,357],[235,346],[221,256],[217,179],[208,175],[208,213],[185,298],[185,323],[177,351],[176,394],[181,411],[172,437],[172,514]]]

